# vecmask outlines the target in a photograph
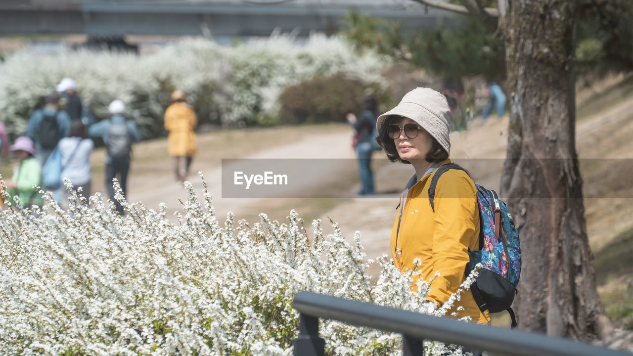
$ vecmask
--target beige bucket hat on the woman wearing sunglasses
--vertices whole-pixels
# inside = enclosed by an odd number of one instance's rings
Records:
[[[430,88],[417,87],[404,94],[398,106],[378,117],[376,127],[379,132],[383,122],[390,115],[411,118],[427,130],[440,146],[446,149],[446,153],[451,153],[448,123],[453,121],[453,113],[441,93]]]

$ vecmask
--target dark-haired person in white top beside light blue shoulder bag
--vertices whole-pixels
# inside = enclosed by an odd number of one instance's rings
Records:
[[[61,139],[58,144],[61,155],[61,179],[68,179],[73,189],[86,199],[91,194],[92,175],[90,172],[90,153],[94,142],[88,138],[88,130],[80,120],[70,124],[70,134]],[[81,192],[79,192],[81,188]],[[65,197],[68,191],[64,188]]]

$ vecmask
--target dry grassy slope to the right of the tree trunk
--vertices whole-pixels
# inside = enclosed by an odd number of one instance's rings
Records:
[[[601,125],[577,140],[587,234],[607,314],[618,326],[633,330],[633,111],[610,111],[633,100],[633,77],[601,89],[590,93],[577,112],[579,125],[594,115],[604,116]]]

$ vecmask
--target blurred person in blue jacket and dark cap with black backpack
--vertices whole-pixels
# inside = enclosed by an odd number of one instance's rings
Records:
[[[35,110],[28,119],[25,136],[35,143],[35,159],[44,166],[60,139],[68,136],[70,117],[66,111],[60,110],[60,96],[56,92],[48,94],[46,105]]]

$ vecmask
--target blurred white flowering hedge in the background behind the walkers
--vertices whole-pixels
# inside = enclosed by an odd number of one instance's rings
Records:
[[[93,51],[35,53],[18,51],[0,67],[0,112],[14,136],[22,134],[38,100],[63,77],[72,77],[85,105],[97,118],[108,116],[113,99],[128,104],[144,137],[162,132],[169,94],[179,88],[201,114],[201,122],[225,126],[275,118],[284,87],[315,76],[344,72],[372,86],[389,61],[358,54],[340,37],[311,35],[303,44],[289,35],[273,35],[235,46],[189,39],[156,53],[135,55]]]

